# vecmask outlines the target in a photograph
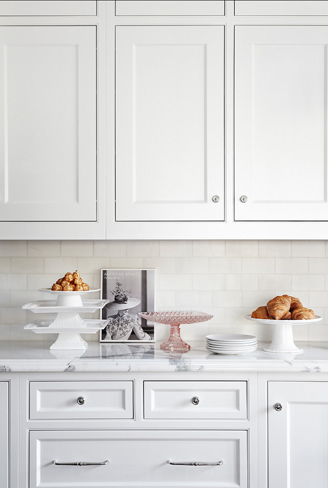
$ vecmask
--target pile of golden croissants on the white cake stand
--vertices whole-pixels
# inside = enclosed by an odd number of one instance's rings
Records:
[[[252,318],[273,320],[309,320],[315,318],[313,310],[303,307],[294,296],[275,296],[267,305],[259,307],[251,315]]]

